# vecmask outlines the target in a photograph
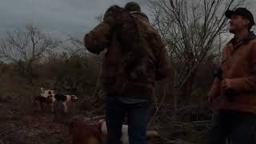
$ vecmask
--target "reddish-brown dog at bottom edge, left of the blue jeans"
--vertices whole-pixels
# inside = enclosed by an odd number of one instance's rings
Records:
[[[84,118],[76,116],[70,120],[72,144],[102,144],[100,125],[90,124]]]

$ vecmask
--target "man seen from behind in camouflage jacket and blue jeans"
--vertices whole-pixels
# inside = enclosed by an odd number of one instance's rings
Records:
[[[111,6],[106,10],[103,22],[86,34],[84,42],[94,54],[106,49],[102,86],[108,143],[120,143],[125,114],[130,143],[145,143],[155,81],[170,73],[162,38],[138,3],[128,2],[124,8]]]

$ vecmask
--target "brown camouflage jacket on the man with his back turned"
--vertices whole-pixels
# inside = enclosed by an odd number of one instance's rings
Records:
[[[170,73],[166,47],[146,14],[125,13],[118,23],[122,25],[119,29],[103,21],[84,38],[90,52],[99,54],[106,49],[103,90],[106,94],[151,100],[154,82]]]

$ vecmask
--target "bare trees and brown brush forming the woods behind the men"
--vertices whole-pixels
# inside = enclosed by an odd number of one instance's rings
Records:
[[[222,46],[232,37],[224,12],[247,1],[149,0],[150,21],[166,42],[172,64],[170,78],[157,83],[150,127],[167,141],[204,142],[213,114],[206,96]],[[38,26],[8,31],[0,40],[0,98],[26,103],[42,86],[77,94],[79,112],[102,115],[100,75],[105,52],[90,54],[83,36],[67,37],[52,38]]]

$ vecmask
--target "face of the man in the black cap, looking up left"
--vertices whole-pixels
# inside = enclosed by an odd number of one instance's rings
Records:
[[[233,14],[230,19],[230,33],[236,34],[238,31],[247,29],[249,20],[242,18],[242,15]]]

